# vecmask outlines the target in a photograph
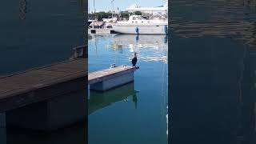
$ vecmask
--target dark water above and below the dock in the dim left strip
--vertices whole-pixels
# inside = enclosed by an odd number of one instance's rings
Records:
[[[2,0],[0,77],[34,66],[69,59],[73,53],[72,48],[86,42],[85,2],[83,0]],[[48,134],[0,128],[1,144],[86,143],[85,136],[84,124]],[[6,140],[3,140],[4,138]]]

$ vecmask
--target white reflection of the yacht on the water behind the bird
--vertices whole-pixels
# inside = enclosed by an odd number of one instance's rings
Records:
[[[167,35],[118,34],[114,36],[113,49],[128,48],[131,53],[138,53],[138,61],[167,63]],[[133,54],[130,54],[130,59]]]

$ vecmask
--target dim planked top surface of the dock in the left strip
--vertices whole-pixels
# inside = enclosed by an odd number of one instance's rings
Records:
[[[58,82],[87,76],[87,58],[59,62],[51,66],[27,70],[0,78],[0,100]]]

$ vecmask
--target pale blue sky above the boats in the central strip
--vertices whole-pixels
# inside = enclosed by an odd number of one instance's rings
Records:
[[[111,0],[89,0],[90,11],[93,11],[95,2],[95,10],[112,10]],[[164,5],[165,0],[114,0],[114,8],[125,10],[126,7],[137,3],[142,7],[154,7]]]

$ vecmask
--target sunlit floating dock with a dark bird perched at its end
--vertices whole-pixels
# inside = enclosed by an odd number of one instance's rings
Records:
[[[91,90],[110,90],[134,81],[134,66],[117,66],[88,74],[88,84]]]

